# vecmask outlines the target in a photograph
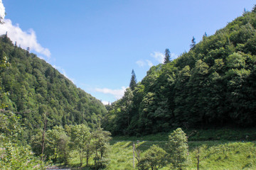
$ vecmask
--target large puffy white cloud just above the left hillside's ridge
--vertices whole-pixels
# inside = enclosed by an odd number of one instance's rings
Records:
[[[37,42],[36,33],[33,29],[23,31],[21,28],[19,28],[18,24],[14,26],[12,25],[11,20],[5,19],[4,24],[0,26],[0,35],[5,34],[6,32],[8,37],[13,42],[17,42],[17,45],[21,45],[23,49],[29,47],[30,50],[34,50],[35,52],[50,58],[50,50],[48,50],[48,48],[42,47]]]

